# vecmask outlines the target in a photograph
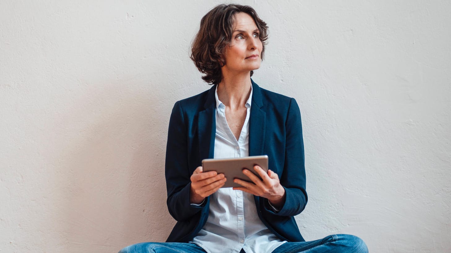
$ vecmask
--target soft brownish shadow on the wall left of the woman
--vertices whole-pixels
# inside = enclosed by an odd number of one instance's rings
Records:
[[[62,175],[55,175],[65,199],[57,214],[62,251],[117,252],[169,235],[175,224],[164,176],[170,108],[152,95],[109,86],[88,91],[62,113],[70,123],[61,124],[74,127],[58,159]]]

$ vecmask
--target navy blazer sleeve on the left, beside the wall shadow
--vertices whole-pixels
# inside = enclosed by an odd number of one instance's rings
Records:
[[[189,203],[191,174],[188,166],[188,127],[180,101],[174,104],[169,120],[166,145],[166,190],[167,207],[176,221],[193,217],[204,206]]]

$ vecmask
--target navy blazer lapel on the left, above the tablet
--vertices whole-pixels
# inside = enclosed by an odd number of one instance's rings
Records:
[[[214,85],[207,95],[205,101],[205,110],[199,112],[198,118],[198,137],[199,137],[199,158],[213,158],[215,154],[215,135],[216,135],[216,85]]]

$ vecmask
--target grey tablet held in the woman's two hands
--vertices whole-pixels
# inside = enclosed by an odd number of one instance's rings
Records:
[[[226,187],[242,187],[242,185],[233,182],[235,178],[242,179],[244,181],[252,182],[249,177],[243,174],[243,169],[249,169],[256,176],[257,172],[253,170],[253,167],[258,165],[262,167],[265,172],[268,172],[268,156],[248,156],[241,158],[222,158],[222,159],[203,159],[202,169],[204,172],[216,171],[218,174],[223,173],[226,176],[227,181],[221,188]],[[260,179],[261,177],[258,176]]]

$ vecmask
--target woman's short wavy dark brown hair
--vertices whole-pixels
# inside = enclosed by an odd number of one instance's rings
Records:
[[[235,14],[244,12],[249,14],[257,25],[260,41],[262,41],[262,59],[265,51],[267,35],[266,23],[258,18],[255,10],[248,5],[217,5],[200,21],[200,28],[191,46],[191,56],[194,65],[205,74],[202,77],[208,84],[218,84],[222,80],[221,66],[225,62],[222,57],[232,39]],[[253,71],[251,71],[251,77]]]

